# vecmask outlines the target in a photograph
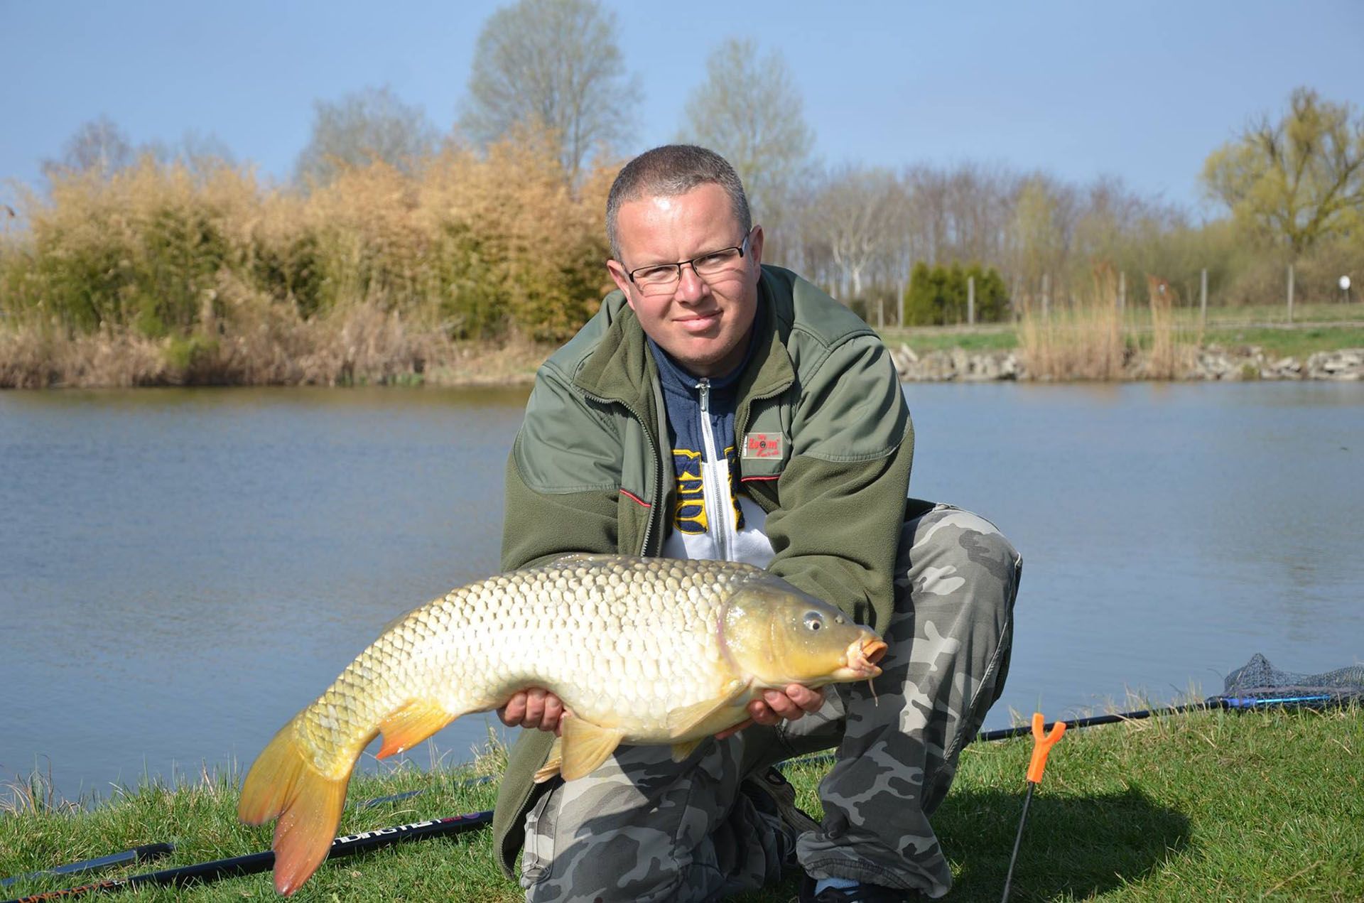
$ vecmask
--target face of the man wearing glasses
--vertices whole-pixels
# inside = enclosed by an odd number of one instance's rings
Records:
[[[621,261],[607,269],[625,292],[644,331],[694,376],[723,376],[743,360],[758,306],[762,228],[753,229],[747,252],[717,276],[698,277],[692,266],[662,295],[645,293],[629,273],[657,263],[677,263],[743,243],[717,184],[683,195],[642,198],[617,211]]]

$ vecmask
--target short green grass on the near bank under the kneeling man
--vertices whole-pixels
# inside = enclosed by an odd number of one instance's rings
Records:
[[[998,899],[1022,806],[1028,739],[977,743],[934,825],[952,863],[951,900]],[[1359,900],[1364,898],[1364,711],[1200,712],[1072,731],[1056,746],[1033,801],[1013,876],[1013,899]],[[483,761],[480,768],[495,768]],[[351,799],[421,794],[372,809],[348,808],[342,832],[488,809],[491,784],[468,769],[400,768],[359,778]],[[822,768],[792,767],[802,808],[818,814]],[[52,868],[139,843],[173,840],[155,868],[240,855],[269,846],[269,831],[237,824],[237,775],[180,788],[120,791],[93,812],[20,795],[0,813],[0,874]],[[22,802],[29,799],[29,805]],[[146,866],[142,868],[146,870]],[[131,872],[125,872],[131,873]],[[98,877],[109,877],[109,873]],[[79,876],[7,888],[33,893],[82,884]],[[747,895],[791,899],[795,878]],[[270,899],[267,876],[192,889],[127,892],[136,900]],[[361,854],[322,869],[299,900],[518,900],[492,861],[487,831]]]

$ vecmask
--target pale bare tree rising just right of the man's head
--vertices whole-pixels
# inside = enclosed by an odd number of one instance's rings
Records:
[[[792,183],[809,175],[814,146],[791,71],[777,50],[758,57],[752,40],[730,38],[711,50],[705,72],[687,98],[681,138],[728,160],[754,216],[775,222]]]

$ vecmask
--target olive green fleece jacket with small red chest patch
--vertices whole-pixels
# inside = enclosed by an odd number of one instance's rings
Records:
[[[677,491],[663,412],[644,330],[611,292],[536,374],[507,461],[503,569],[582,551],[657,555]],[[877,334],[795,273],[764,266],[734,434],[735,482],[767,512],[768,569],[859,623],[888,623],[914,428]],[[509,876],[551,742],[524,731],[498,793]]]

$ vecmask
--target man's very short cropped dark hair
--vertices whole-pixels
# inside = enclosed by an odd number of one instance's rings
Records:
[[[663,145],[627,162],[611,183],[611,194],[606,201],[606,237],[611,244],[611,256],[621,259],[621,235],[617,229],[621,205],[641,198],[672,198],[708,183],[720,186],[730,195],[730,210],[743,228],[743,235],[747,235],[753,228],[753,214],[734,166],[705,147]]]

